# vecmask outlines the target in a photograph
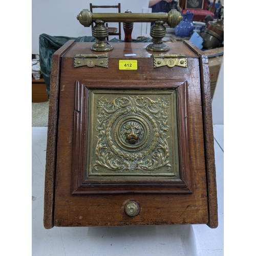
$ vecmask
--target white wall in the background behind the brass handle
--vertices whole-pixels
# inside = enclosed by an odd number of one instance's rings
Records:
[[[90,10],[90,3],[94,5],[117,5],[121,4],[121,13],[129,9],[133,13],[142,13],[143,8],[148,8],[148,0],[33,0],[32,1],[32,54],[39,51],[38,38],[40,34],[52,36],[92,36],[92,28],[83,27],[76,16],[83,10]],[[96,9],[97,10],[97,9]],[[98,13],[118,12],[118,9],[98,9]],[[116,23],[108,23],[109,27]],[[149,32],[147,31],[147,34]],[[141,23],[134,23],[132,38],[141,36]],[[115,36],[117,37],[117,36]],[[110,36],[109,39],[114,38]],[[124,31],[121,23],[121,39],[124,39]]]

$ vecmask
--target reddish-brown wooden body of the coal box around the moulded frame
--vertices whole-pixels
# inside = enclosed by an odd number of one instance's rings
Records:
[[[76,54],[95,52],[90,50],[90,42],[72,40],[67,44],[53,55],[52,63],[53,89],[51,88],[50,92],[51,126],[47,144],[45,227],[166,224],[208,224],[210,227],[216,227],[218,216],[212,212],[217,211],[217,201],[216,204],[209,201],[214,199],[212,195],[216,195],[215,170],[211,169],[214,164],[211,152],[212,124],[211,127],[205,127],[210,125],[205,115],[211,110],[208,106],[210,102],[203,98],[206,96],[208,99],[209,74],[207,63],[201,59],[198,49],[191,49],[191,45],[186,46],[182,42],[170,43],[170,51],[166,53],[186,54],[188,68],[165,66],[154,69],[152,54],[155,53],[145,50],[147,43],[113,43],[114,50],[109,52],[108,69],[74,68]],[[129,53],[135,53],[136,56],[124,56]],[[119,59],[137,59],[138,69],[119,70]],[[168,84],[166,80],[170,84],[184,81],[187,84],[187,100],[183,102],[186,104],[183,116],[187,126],[182,129],[187,129],[188,133],[188,146],[184,154],[189,153],[193,193],[134,194],[127,191],[125,194],[72,195],[73,181],[76,180],[74,177],[79,175],[77,173],[72,178],[72,169],[77,164],[73,161],[73,150],[74,145],[81,143],[78,137],[74,137],[74,131],[78,131],[75,127],[81,125],[80,106],[75,103],[75,97],[81,97],[82,94],[76,93],[76,81],[87,88],[100,88],[103,84],[109,90],[116,84],[123,85],[120,89],[132,88],[134,83],[139,81],[140,89],[146,90],[148,84],[164,89]],[[87,110],[87,107],[83,109]],[[83,131],[82,127],[80,131]],[[206,152],[207,150],[210,152]],[[124,206],[129,201],[136,201],[140,205],[140,212],[135,217],[125,214]],[[211,218],[214,218],[214,224],[211,224]]]

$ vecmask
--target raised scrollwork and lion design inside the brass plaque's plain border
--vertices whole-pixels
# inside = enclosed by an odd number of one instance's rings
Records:
[[[98,99],[96,161],[102,166],[123,172],[151,172],[172,167],[166,132],[169,130],[164,97],[117,96]]]

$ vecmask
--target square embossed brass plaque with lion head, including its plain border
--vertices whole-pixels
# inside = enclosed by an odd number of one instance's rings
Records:
[[[177,179],[176,90],[90,90],[87,178]]]

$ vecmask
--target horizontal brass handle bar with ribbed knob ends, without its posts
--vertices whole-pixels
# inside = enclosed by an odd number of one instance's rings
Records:
[[[180,12],[175,9],[168,13],[92,13],[83,9],[76,17],[84,27],[90,27],[97,19],[104,22],[156,22],[163,20],[170,28],[175,28],[182,20]]]

